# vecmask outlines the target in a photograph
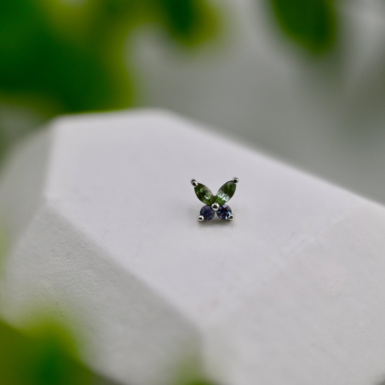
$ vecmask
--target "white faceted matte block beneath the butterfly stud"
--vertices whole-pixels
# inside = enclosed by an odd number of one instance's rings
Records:
[[[232,177],[233,221],[200,223],[191,178]],[[169,384],[184,358],[230,385],[385,377],[385,209],[167,112],[65,117],[0,184],[2,314],[80,315],[85,361]]]

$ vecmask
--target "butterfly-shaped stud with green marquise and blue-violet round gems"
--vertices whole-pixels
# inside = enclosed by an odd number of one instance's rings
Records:
[[[192,179],[191,184],[194,186],[195,194],[198,199],[205,203],[206,206],[201,208],[201,213],[198,217],[198,221],[211,221],[214,218],[215,213],[221,219],[233,219],[231,214],[231,208],[227,203],[234,195],[238,178],[234,178],[232,181],[226,182],[217,192],[216,196],[204,186],[204,184],[198,183],[195,179]]]

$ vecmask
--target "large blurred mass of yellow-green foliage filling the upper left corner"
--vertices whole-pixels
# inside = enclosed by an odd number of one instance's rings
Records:
[[[130,33],[155,23],[176,42],[198,44],[217,27],[210,1],[0,0],[0,101],[44,119],[127,108],[136,94]],[[1,127],[0,141],[1,151]]]

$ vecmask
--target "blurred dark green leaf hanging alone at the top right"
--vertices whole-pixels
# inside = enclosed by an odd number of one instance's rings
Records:
[[[312,54],[331,49],[336,41],[333,0],[269,0],[283,31]]]

